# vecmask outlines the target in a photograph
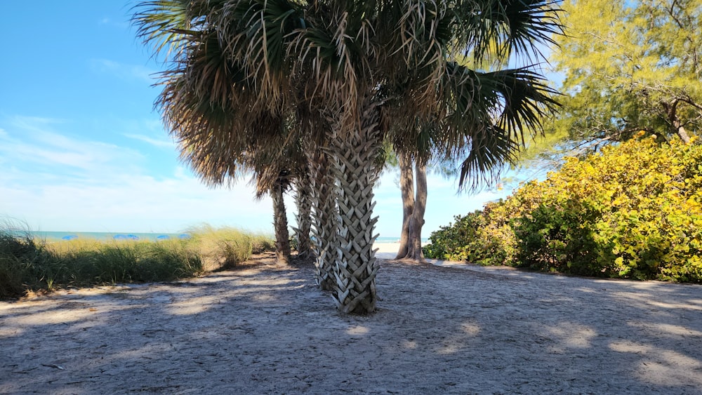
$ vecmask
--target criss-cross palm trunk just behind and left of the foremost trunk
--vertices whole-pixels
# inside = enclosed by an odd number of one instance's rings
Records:
[[[333,290],[336,282],[333,267],[336,263],[336,187],[330,172],[331,161],[321,147],[312,147],[307,154],[310,161],[310,187],[312,189],[312,250],[316,255],[317,286]]]

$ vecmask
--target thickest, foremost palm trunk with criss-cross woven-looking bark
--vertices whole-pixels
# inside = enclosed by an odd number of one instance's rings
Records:
[[[364,104],[360,128],[333,139],[334,173],[338,180],[339,243],[334,267],[333,297],[337,308],[347,314],[364,314],[376,309],[376,250],[373,229],[373,185],[378,180],[376,157],[380,149],[378,106]]]

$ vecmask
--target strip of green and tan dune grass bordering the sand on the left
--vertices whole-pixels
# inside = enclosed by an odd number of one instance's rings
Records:
[[[231,268],[270,250],[269,237],[208,225],[187,240],[46,242],[27,231],[0,229],[0,297],[69,286],[173,281]]]

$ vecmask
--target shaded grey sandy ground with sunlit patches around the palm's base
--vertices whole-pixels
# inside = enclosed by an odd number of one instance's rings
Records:
[[[0,302],[0,393],[702,394],[702,286],[392,251],[369,316],[270,260]]]

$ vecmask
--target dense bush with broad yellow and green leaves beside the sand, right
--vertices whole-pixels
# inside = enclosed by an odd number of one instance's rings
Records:
[[[655,138],[568,159],[543,182],[471,216],[427,250],[591,276],[702,281],[702,146]],[[460,217],[459,217],[460,218]],[[454,225],[456,227],[456,225]],[[446,243],[444,236],[468,237]],[[437,240],[435,240],[437,239]],[[436,243],[440,241],[441,243]],[[435,254],[436,255],[436,254]]]

